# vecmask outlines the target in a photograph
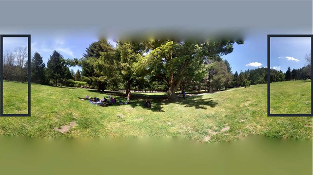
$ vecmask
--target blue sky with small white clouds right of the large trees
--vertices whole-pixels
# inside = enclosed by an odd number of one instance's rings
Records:
[[[285,72],[290,66],[299,69],[305,66],[306,54],[311,50],[311,38],[271,37],[271,68]],[[233,72],[267,67],[267,35],[247,37],[242,45],[234,44],[234,51],[222,56]]]

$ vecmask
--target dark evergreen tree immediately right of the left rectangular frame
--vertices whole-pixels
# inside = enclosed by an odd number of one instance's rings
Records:
[[[31,82],[43,84],[45,82],[44,69],[42,57],[36,52],[31,61]]]

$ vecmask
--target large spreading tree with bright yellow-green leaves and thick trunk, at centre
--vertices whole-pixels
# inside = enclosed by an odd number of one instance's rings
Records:
[[[234,43],[232,40],[166,41],[146,56],[141,57],[135,67],[165,80],[168,84],[168,99],[176,100],[175,90],[184,77],[194,76],[205,60],[233,52]]]

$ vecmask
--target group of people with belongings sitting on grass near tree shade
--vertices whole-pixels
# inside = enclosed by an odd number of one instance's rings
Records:
[[[103,99],[99,99],[97,97],[91,97],[89,98],[89,96],[86,96],[86,99],[89,100],[89,102],[93,105],[98,105],[98,106],[107,106],[107,105],[128,105],[130,103],[130,93],[127,96],[127,102],[122,102],[121,100],[118,101],[117,103],[117,99],[113,98],[111,96],[111,94],[109,95],[109,99],[103,97]]]

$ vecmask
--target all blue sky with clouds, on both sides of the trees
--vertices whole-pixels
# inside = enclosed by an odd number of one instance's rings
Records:
[[[64,58],[81,58],[86,47],[98,40],[95,31],[79,31],[66,35],[31,35],[31,53],[40,53],[47,63],[54,50]],[[110,39],[109,39],[110,40]],[[26,38],[4,38],[3,50],[13,50],[17,46],[27,46]],[[306,65],[305,55],[311,50],[311,38],[271,38],[271,68],[287,70],[288,66],[298,69]],[[247,35],[245,43],[234,44],[234,51],[222,56],[231,64],[233,73],[240,70],[267,67],[267,35]],[[79,67],[71,68],[75,72]]]

